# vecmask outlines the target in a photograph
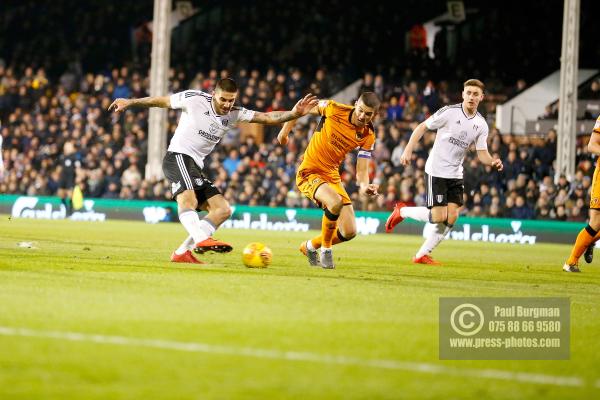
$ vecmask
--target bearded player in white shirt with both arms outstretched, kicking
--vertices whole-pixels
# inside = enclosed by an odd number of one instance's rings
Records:
[[[229,203],[219,189],[202,173],[204,159],[225,133],[238,122],[281,124],[307,114],[317,105],[317,98],[306,95],[291,111],[258,112],[234,103],[237,84],[229,78],[217,82],[212,94],[186,90],[170,96],[140,99],[116,99],[109,110],[122,112],[129,107],[161,107],[182,110],[177,129],[163,159],[163,172],[171,183],[177,201],[179,220],[189,236],[171,255],[173,262],[198,263],[196,253],[232,250],[231,245],[212,238],[215,230],[231,216]],[[200,219],[197,211],[208,214]]]

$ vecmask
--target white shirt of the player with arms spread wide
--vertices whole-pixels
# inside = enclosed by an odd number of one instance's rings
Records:
[[[183,112],[167,150],[187,154],[200,168],[204,168],[204,158],[229,129],[238,122],[249,122],[254,118],[254,111],[243,107],[234,107],[226,115],[217,115],[211,103],[212,96],[200,90],[175,93],[170,100],[171,108]]]

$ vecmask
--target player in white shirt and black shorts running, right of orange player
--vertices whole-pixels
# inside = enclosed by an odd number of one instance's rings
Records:
[[[475,144],[477,157],[484,165],[498,171],[503,168],[502,161],[493,158],[488,151],[488,125],[477,112],[485,86],[478,79],[469,79],[463,86],[463,102],[443,107],[421,122],[400,157],[403,165],[409,165],[413,148],[421,137],[427,130],[437,130],[433,148],[425,163],[427,207],[406,207],[404,203],[397,203],[385,223],[387,233],[392,232],[404,218],[437,225],[435,232],[429,234],[413,258],[416,264],[440,264],[430,254],[458,219],[464,192],[462,164],[469,146]]]

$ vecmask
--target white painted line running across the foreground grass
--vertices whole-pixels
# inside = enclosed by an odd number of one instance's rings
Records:
[[[336,356],[309,352],[280,351],[259,349],[252,347],[232,347],[223,345],[213,345],[198,342],[178,342],[173,340],[161,339],[142,339],[126,336],[110,336],[79,332],[60,332],[43,331],[28,328],[12,328],[0,326],[0,335],[35,337],[44,339],[67,340],[72,342],[91,342],[100,344],[114,344],[120,346],[150,347],[163,350],[176,350],[191,353],[221,354],[254,358],[267,358],[274,360],[304,361],[322,364],[352,365],[358,367],[382,368],[389,370],[399,370],[408,372],[421,372],[437,375],[452,375],[460,377],[487,378],[504,381],[514,381],[521,383],[533,383],[540,385],[584,387],[585,381],[582,378],[574,376],[556,376],[547,374],[537,374],[530,372],[513,372],[499,369],[474,369],[457,368],[445,365],[385,360],[368,359],[359,357]],[[600,381],[596,382],[596,387],[600,388]]]

